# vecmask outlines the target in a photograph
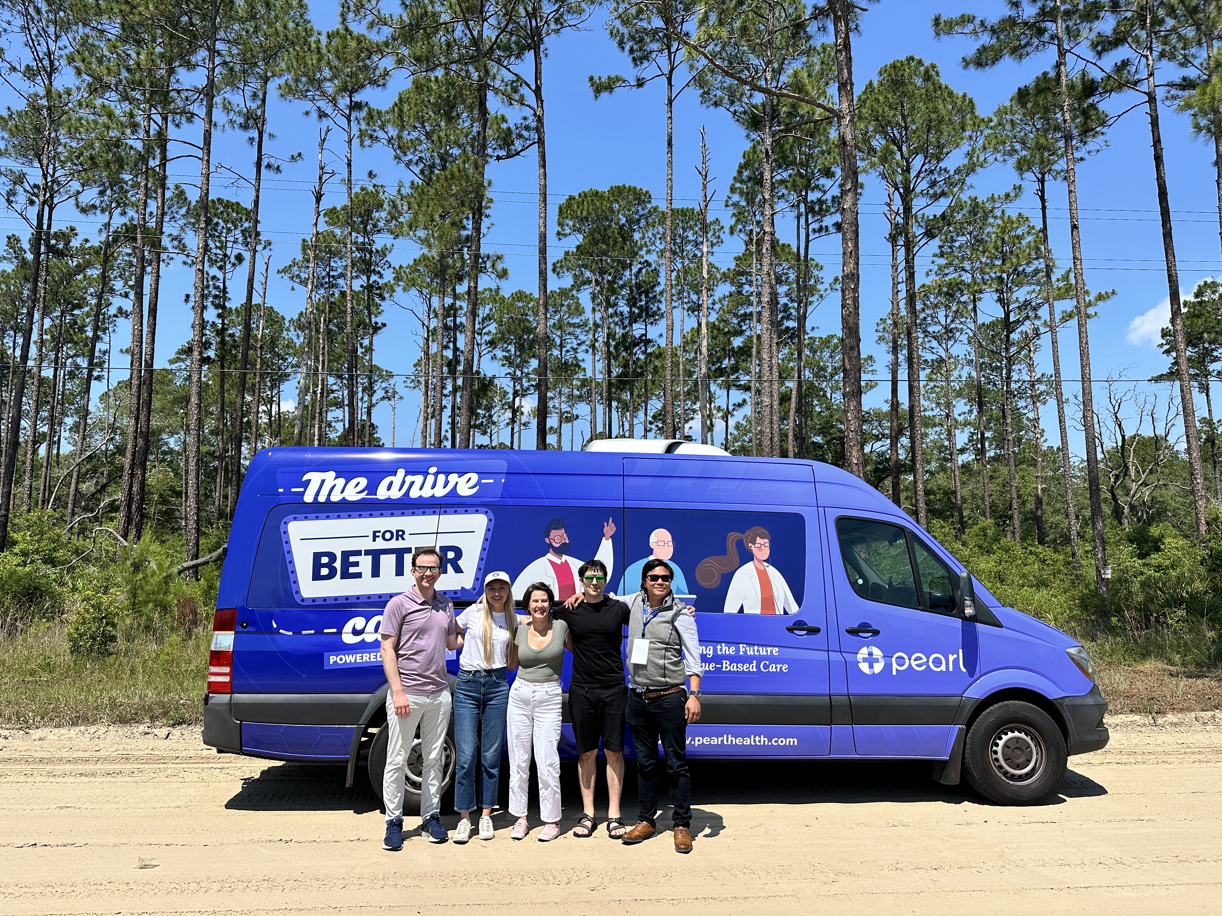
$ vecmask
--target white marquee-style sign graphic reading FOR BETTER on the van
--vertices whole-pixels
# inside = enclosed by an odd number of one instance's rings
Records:
[[[420,547],[441,553],[439,591],[473,590],[491,529],[492,514],[479,508],[299,513],[281,523],[281,541],[297,601],[389,601],[415,584],[412,553]],[[348,623],[345,642],[373,641],[373,622]]]

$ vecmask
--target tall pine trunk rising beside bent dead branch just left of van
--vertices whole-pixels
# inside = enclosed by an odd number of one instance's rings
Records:
[[[209,193],[213,171],[213,106],[216,96],[218,0],[211,0],[204,71],[204,125],[199,144],[199,219],[196,224],[196,282],[191,316],[191,393],[187,403],[187,561],[199,559],[199,484],[204,431],[204,296],[208,280]],[[198,578],[197,570],[187,573]]]

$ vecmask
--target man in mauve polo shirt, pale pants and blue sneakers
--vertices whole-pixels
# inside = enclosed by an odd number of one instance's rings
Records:
[[[403,793],[407,757],[420,729],[420,833],[430,843],[450,839],[441,826],[441,752],[450,725],[450,680],[446,650],[462,649],[455,606],[434,587],[441,575],[441,554],[422,547],[412,554],[415,585],[386,605],[381,623],[386,694],[386,771],[382,802],[386,838],[382,849],[403,848]]]

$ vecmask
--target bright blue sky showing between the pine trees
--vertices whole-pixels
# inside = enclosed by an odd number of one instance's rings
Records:
[[[996,6],[971,0],[882,0],[871,6],[864,16],[862,34],[854,38],[858,89],[880,65],[913,54],[938,64],[947,83],[960,92],[970,92],[980,111],[991,112],[1015,87],[1029,81],[1048,62],[1035,60],[1023,66],[1003,65],[987,72],[964,71],[959,60],[970,51],[971,43],[968,39],[936,40],[930,29],[930,18],[935,12],[954,13],[970,7],[973,12],[984,13],[989,7]],[[335,24],[334,17],[332,6],[314,7],[314,20],[319,28],[331,28]],[[665,199],[665,109],[661,87],[653,84],[642,90],[620,92],[596,101],[590,94],[587,83],[589,75],[628,73],[626,57],[602,31],[604,20],[605,11],[595,10],[585,31],[568,33],[554,43],[546,61],[551,192],[549,208],[552,219],[556,205],[565,197],[590,187],[631,183],[648,188],[659,204]],[[381,99],[374,99],[374,103],[385,103],[400,88],[402,83],[392,81],[387,92]],[[1135,101],[1133,98],[1118,99],[1111,107],[1119,110]],[[301,237],[309,231],[312,204],[308,188],[314,178],[318,134],[315,122],[303,117],[301,107],[279,101],[271,115],[273,129],[277,137],[269,144],[269,150],[280,156],[296,151],[304,154],[301,164],[287,165],[279,178],[265,183],[263,228],[274,242],[273,271],[284,266],[297,253]],[[694,166],[699,161],[701,125],[709,132],[720,206],[745,139],[723,112],[701,107],[690,89],[681,96],[675,118],[676,203],[692,205],[699,195]],[[1187,294],[1199,280],[1220,272],[1217,192],[1211,151],[1190,137],[1187,118],[1165,109],[1163,136],[1171,203],[1176,210],[1180,285]],[[338,153],[336,148],[336,154]],[[218,134],[214,158],[224,166],[249,173],[252,153],[238,134]],[[378,172],[379,181],[389,184],[404,177],[385,153],[378,149],[365,149],[357,154],[356,173],[363,175],[369,170]],[[193,170],[187,161],[180,161],[174,171],[180,181],[198,180],[198,172],[192,175]],[[507,289],[519,286],[533,289],[536,219],[534,156],[528,154],[514,161],[492,165],[489,177],[492,181],[495,204],[486,247],[506,256],[506,265],[512,272]],[[888,309],[888,247],[885,239],[881,191],[869,177],[865,181],[862,198],[862,325],[865,349],[877,354],[881,373],[886,359],[874,343],[874,325]],[[985,194],[1008,188],[1015,181],[1017,176],[1009,166],[1000,164],[978,177],[975,189],[976,193]],[[1163,324],[1166,314],[1167,282],[1150,134],[1143,110],[1130,112],[1113,127],[1107,148],[1079,167],[1079,181],[1088,285],[1092,291],[1117,291],[1091,322],[1095,377],[1149,377],[1166,369],[1166,358],[1157,352],[1154,342],[1157,341],[1157,329]],[[330,188],[325,205],[341,203],[342,186],[332,182]],[[213,193],[247,199],[243,189],[226,188],[222,178],[214,178]],[[1031,195],[1023,199],[1022,206],[1037,219]],[[1069,239],[1063,187],[1053,191],[1053,247],[1061,266],[1068,267]],[[76,222],[86,234],[93,230],[93,224],[88,220]],[[0,225],[12,231],[20,224],[9,214]],[[786,228],[782,225],[781,232],[783,238],[788,238],[792,226]],[[551,245],[550,259],[554,260],[562,250],[554,233]],[[838,237],[825,238],[815,248],[814,256],[825,265],[826,276],[830,278],[837,275]],[[728,264],[737,250],[741,250],[741,244],[737,239],[728,238],[726,245],[717,252],[716,260]],[[414,253],[409,242],[396,242],[396,259],[409,260]],[[159,365],[164,365],[172,351],[189,336],[189,310],[183,304],[183,293],[191,286],[189,265],[176,261],[167,271],[166,282],[169,288],[163,298],[158,333]],[[561,283],[554,278],[554,285]],[[303,305],[303,291],[291,289],[274,274],[269,300],[277,309],[296,313]],[[406,297],[402,298],[406,300]],[[391,371],[408,373],[419,352],[418,325],[408,313],[395,305],[389,307],[386,320],[390,326],[379,338],[376,359]],[[814,313],[811,331],[814,330],[820,333],[840,331],[838,298],[829,299]],[[119,342],[127,333],[126,327],[120,327],[115,333],[116,353],[112,362],[116,364],[126,363],[117,349]],[[1072,325],[1064,329],[1061,340],[1064,374],[1067,377],[1077,377],[1077,337]],[[1042,360],[1047,362],[1046,352]],[[1166,391],[1165,386],[1157,387]],[[291,396],[286,390],[286,398]],[[880,387],[871,396],[871,402],[882,404],[882,397]],[[400,408],[400,445],[407,442],[414,409],[409,396]],[[1051,410],[1051,405],[1045,409]],[[375,419],[389,442],[389,407],[380,405]],[[1045,418],[1046,429],[1055,430],[1052,424]]]

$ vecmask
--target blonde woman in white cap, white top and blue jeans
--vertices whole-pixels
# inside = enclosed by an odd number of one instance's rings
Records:
[[[501,741],[510,699],[508,647],[519,623],[508,573],[489,573],[484,596],[458,616],[463,636],[455,684],[455,809],[462,815],[453,841],[470,839],[470,813],[483,809],[479,838],[492,839],[492,806],[501,774]],[[478,798],[477,798],[478,795]]]

